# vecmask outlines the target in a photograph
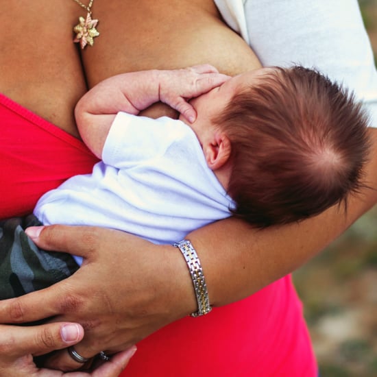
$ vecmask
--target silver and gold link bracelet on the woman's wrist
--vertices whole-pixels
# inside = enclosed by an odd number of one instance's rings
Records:
[[[199,257],[197,256],[193,245],[190,241],[183,240],[178,243],[174,243],[173,246],[178,247],[178,249],[182,252],[184,260],[186,260],[187,266],[189,267],[191,280],[193,280],[197,300],[197,311],[195,313],[191,313],[191,317],[199,317],[200,315],[210,313],[212,308],[208,298],[206,279],[204,278],[202,265],[200,264]]]

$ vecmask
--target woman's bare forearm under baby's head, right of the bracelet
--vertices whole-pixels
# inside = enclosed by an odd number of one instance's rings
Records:
[[[350,197],[347,213],[335,206],[301,223],[265,230],[226,219],[187,236],[201,259],[212,305],[240,300],[300,267],[377,202],[377,130],[370,135],[369,188]]]

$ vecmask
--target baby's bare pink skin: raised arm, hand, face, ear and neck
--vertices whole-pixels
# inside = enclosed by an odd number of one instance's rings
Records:
[[[245,85],[269,69],[256,69],[230,77],[209,64],[178,70],[121,73],[99,82],[75,107],[77,128],[89,149],[102,158],[104,144],[116,114],[139,114],[156,102],[171,106],[179,119],[195,132],[208,167],[226,189],[232,171],[231,143],[213,117]]]

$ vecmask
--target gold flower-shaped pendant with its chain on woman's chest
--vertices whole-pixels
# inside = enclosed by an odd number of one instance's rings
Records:
[[[73,27],[73,32],[76,34],[73,42],[80,43],[80,47],[84,49],[86,45],[93,46],[93,38],[99,36],[99,32],[95,28],[98,20],[92,19],[92,5],[94,0],[90,0],[88,5],[83,4],[80,0],[73,1],[87,12],[86,18],[79,17],[79,23]]]

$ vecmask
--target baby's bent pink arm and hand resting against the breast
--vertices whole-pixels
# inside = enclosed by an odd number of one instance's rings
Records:
[[[106,137],[119,111],[138,114],[161,101],[194,121],[195,110],[187,100],[223,84],[228,78],[209,64],[112,76],[78,101],[75,108],[78,130],[90,150],[101,158]]]

